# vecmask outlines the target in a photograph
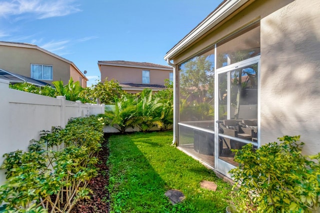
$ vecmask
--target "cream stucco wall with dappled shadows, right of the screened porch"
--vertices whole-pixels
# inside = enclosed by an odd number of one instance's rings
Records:
[[[320,1],[295,0],[261,19],[261,138],[301,135],[320,152]]]

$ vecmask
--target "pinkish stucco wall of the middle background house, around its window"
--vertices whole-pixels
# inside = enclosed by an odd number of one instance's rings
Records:
[[[149,68],[137,68],[137,67],[122,67],[122,66],[110,66],[100,65],[101,80],[106,77],[108,80],[116,79],[119,83],[142,83],[142,70],[150,71],[150,83],[164,85],[164,79],[169,79],[169,72],[173,70],[160,70]]]

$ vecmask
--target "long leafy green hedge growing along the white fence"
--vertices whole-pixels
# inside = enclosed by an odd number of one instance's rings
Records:
[[[86,186],[97,174],[94,155],[101,147],[100,120],[96,116],[72,119],[64,129],[42,131],[28,152],[5,154],[1,169],[6,170],[7,181],[0,187],[5,211],[68,213],[79,199],[88,198]]]

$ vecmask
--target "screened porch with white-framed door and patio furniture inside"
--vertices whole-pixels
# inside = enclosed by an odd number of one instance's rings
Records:
[[[211,167],[258,145],[259,41],[257,21],[178,65],[178,146]]]

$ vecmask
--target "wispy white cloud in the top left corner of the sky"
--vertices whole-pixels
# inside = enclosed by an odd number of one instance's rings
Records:
[[[64,16],[81,11],[74,0],[9,0],[1,2],[0,15],[23,15],[31,13],[35,18]]]

